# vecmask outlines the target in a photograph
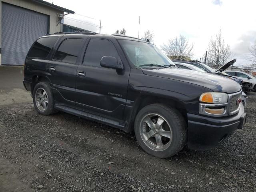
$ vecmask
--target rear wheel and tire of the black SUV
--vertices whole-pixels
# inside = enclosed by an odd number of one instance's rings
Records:
[[[50,115],[58,112],[58,110],[54,109],[54,97],[48,82],[36,84],[33,90],[33,103],[39,114]]]

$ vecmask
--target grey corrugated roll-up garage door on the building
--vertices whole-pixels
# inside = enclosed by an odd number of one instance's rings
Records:
[[[2,3],[2,65],[23,65],[30,46],[47,31],[47,15]]]

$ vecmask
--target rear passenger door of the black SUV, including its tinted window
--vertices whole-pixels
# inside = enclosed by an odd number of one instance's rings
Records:
[[[78,56],[84,38],[63,36],[56,52],[47,64],[48,78],[54,89],[54,99],[58,102],[75,105],[75,80]]]

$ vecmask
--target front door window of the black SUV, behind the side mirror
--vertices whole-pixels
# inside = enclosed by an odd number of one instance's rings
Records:
[[[100,60],[103,56],[112,56],[117,59],[119,57],[118,52],[111,41],[91,39],[85,52],[83,65],[101,67]]]

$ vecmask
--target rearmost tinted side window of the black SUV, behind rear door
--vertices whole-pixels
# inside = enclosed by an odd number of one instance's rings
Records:
[[[43,37],[36,40],[28,53],[28,57],[46,58],[57,39],[58,37]]]

